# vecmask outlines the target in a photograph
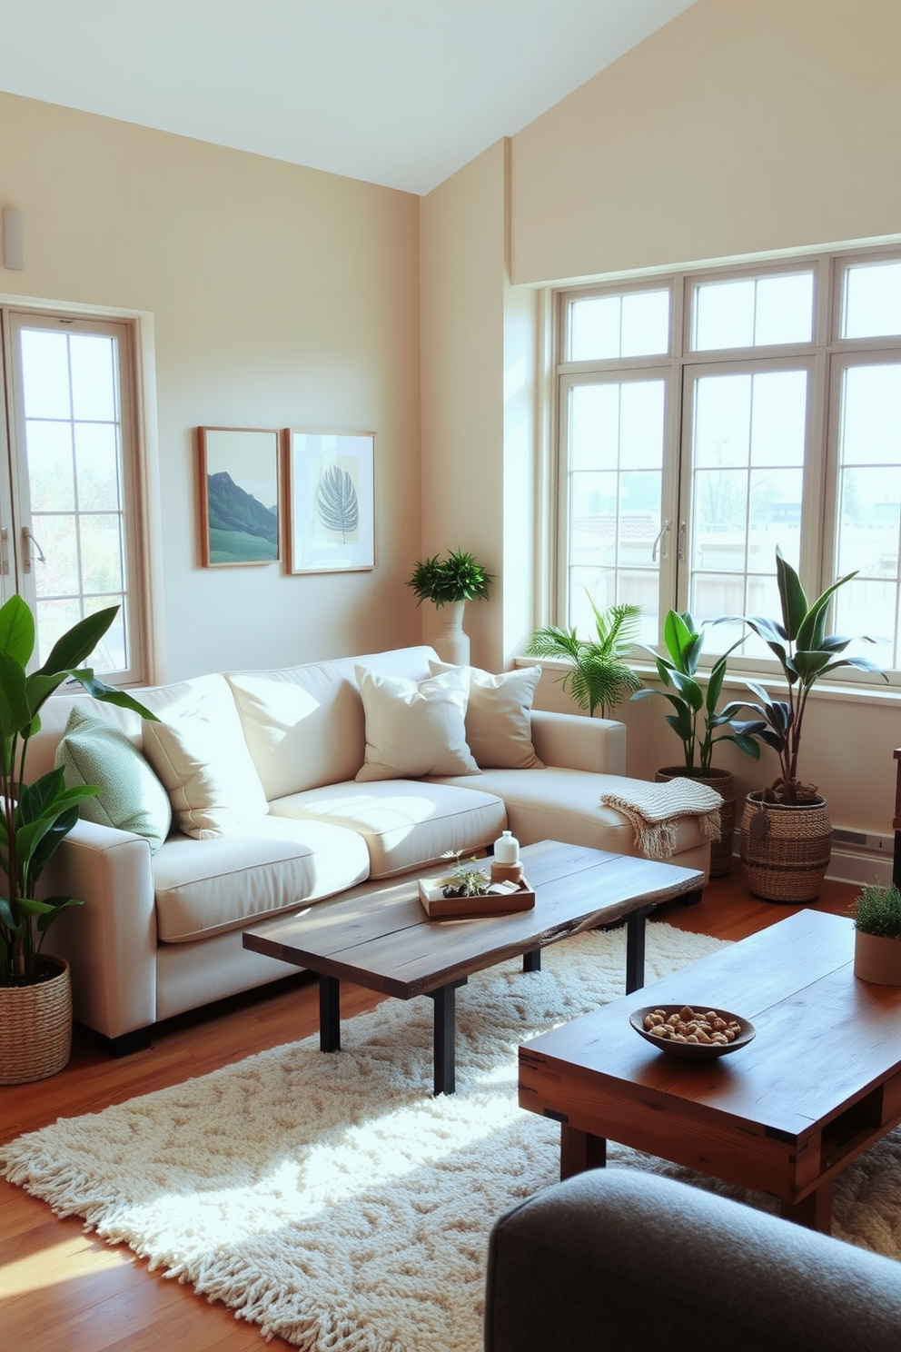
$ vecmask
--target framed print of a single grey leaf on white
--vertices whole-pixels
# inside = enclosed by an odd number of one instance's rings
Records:
[[[376,435],[285,433],[288,572],[376,566]]]

